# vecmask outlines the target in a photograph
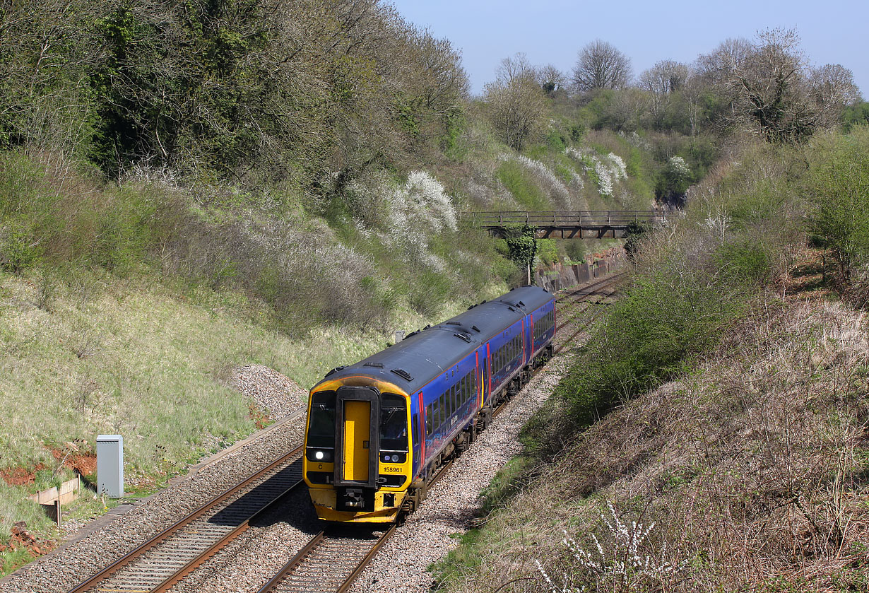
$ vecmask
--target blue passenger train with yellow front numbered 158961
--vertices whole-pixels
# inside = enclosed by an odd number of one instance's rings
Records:
[[[303,476],[317,516],[395,523],[552,357],[555,298],[525,286],[329,370],[310,390]]]

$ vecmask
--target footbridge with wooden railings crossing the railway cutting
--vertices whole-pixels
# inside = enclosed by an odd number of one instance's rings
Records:
[[[459,220],[504,237],[507,229],[528,225],[540,238],[602,239],[625,237],[634,225],[666,224],[675,212],[665,210],[552,210],[510,212],[460,212]]]

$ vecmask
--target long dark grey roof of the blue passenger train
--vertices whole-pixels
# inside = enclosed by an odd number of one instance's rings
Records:
[[[395,346],[358,363],[329,371],[326,377],[331,381],[345,376],[371,376],[414,393],[501,330],[552,299],[551,293],[535,286],[511,290],[443,323],[414,332]]]

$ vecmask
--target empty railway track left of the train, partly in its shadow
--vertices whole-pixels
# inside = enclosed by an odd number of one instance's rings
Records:
[[[158,593],[172,588],[302,484],[300,445],[173,523],[69,593]]]

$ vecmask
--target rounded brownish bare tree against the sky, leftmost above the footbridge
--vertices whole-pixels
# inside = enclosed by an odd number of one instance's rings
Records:
[[[497,72],[498,78],[483,89],[488,117],[502,142],[522,150],[541,127],[546,97],[523,54],[501,60]]]

